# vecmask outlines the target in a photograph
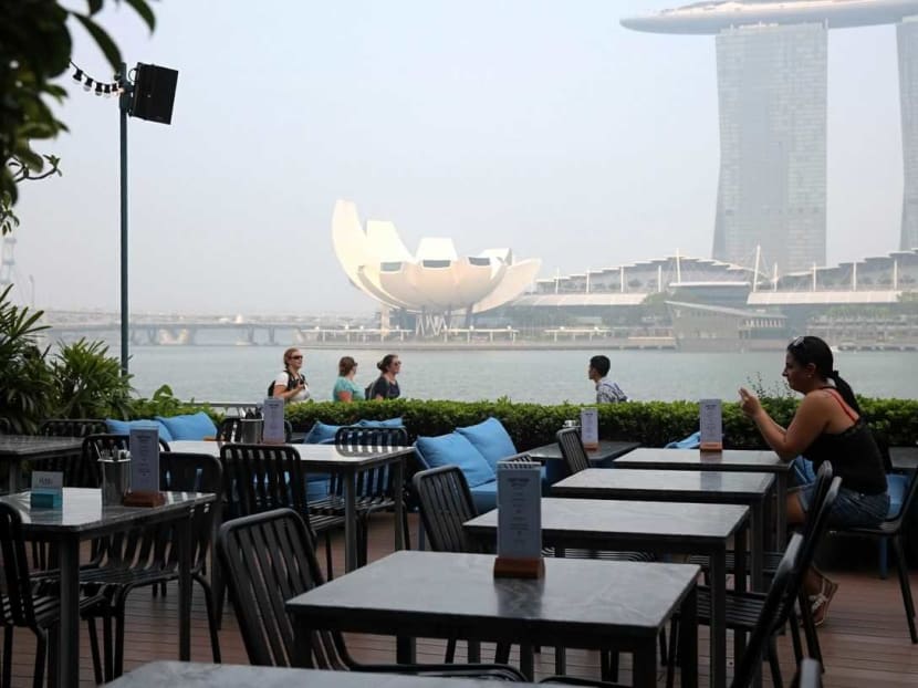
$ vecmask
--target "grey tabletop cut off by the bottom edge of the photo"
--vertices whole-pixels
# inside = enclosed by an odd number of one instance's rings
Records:
[[[461,668],[461,665],[457,665]],[[531,686],[531,684],[518,684]],[[494,681],[405,674],[320,671],[192,661],[152,661],[108,684],[112,688],[494,688]]]

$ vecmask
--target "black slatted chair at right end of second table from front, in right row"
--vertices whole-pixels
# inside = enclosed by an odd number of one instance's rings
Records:
[[[782,597],[782,602],[779,607],[779,613],[775,617],[775,623],[772,625],[770,633],[772,636],[774,636],[785,625],[790,626],[791,637],[794,645],[794,655],[796,656],[797,661],[800,661],[803,658],[803,650],[801,648],[799,622],[796,612],[794,611],[794,604],[799,601],[800,606],[803,608],[805,608],[809,605],[809,602],[806,600],[806,593],[803,588],[803,581],[806,575],[806,572],[813,563],[813,559],[816,554],[816,549],[818,548],[820,541],[822,540],[823,535],[825,535],[826,530],[828,528],[828,517],[832,512],[832,509],[835,507],[835,500],[838,497],[838,490],[841,488],[841,478],[834,478],[832,480],[832,483],[830,484],[830,488],[826,491],[823,502],[817,510],[816,519],[813,523],[813,528],[810,530],[809,538],[804,539],[803,535],[801,535],[800,533],[794,533],[794,536],[792,539],[792,542],[796,539],[800,540],[801,551],[800,555],[794,560],[795,565],[792,571],[791,578],[787,583],[786,594]],[[787,551],[790,551],[790,545],[787,550],[785,550],[785,556]],[[783,561],[784,560],[782,559],[782,563]],[[779,571],[781,567],[779,566]],[[772,578],[772,588],[775,585],[775,580],[776,574],[775,577]],[[763,607],[766,604],[770,595],[771,588],[768,595],[755,592],[728,591],[727,627],[733,630],[734,633],[752,633],[754,636],[757,624],[759,623],[759,619],[763,614]],[[803,613],[806,614],[806,612]],[[710,588],[707,587],[700,587],[698,591],[698,623],[708,625],[711,623],[711,595]],[[678,617],[672,623],[674,646],[677,637]],[[770,646],[768,649],[768,659],[769,665],[771,667],[772,679],[774,681],[774,685],[780,688],[780,686],[782,685],[781,665],[778,660],[778,651],[775,648],[773,637],[771,638]],[[669,671],[667,674],[667,686],[672,685],[672,668],[674,667],[670,665]]]

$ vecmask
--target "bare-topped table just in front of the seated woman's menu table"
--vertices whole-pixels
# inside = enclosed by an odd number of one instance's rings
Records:
[[[771,473],[590,468],[552,486],[552,494],[585,499],[744,504],[750,513],[752,590],[761,591],[764,508],[773,486],[774,476]]]

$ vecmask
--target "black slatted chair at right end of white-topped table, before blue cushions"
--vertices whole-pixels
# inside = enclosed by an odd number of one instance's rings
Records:
[[[366,449],[405,447],[408,445],[408,432],[404,427],[379,428],[358,425],[343,426],[335,432],[335,446],[342,449]],[[406,470],[406,482],[410,479]],[[408,501],[405,484],[394,484],[395,472],[389,467],[371,468],[361,471],[356,477],[356,511],[357,511],[357,552],[358,565],[366,564],[367,534],[369,518],[377,511],[387,511],[395,508],[395,491],[401,490],[403,521],[401,529],[406,549],[411,549],[410,533],[408,532],[408,509],[404,508]],[[328,483],[328,496],[315,500],[310,504],[310,512],[325,515],[344,517],[344,482],[341,476],[332,473]]]

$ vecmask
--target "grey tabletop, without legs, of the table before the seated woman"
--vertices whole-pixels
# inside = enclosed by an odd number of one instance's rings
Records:
[[[783,461],[771,450],[724,449],[663,449],[641,447],[615,459],[617,468],[656,468],[682,470],[759,471],[785,473],[791,462]]]

